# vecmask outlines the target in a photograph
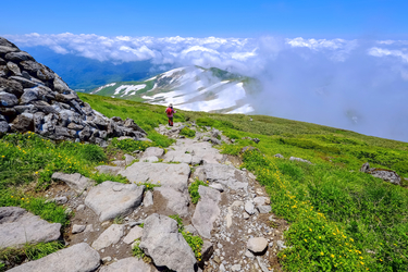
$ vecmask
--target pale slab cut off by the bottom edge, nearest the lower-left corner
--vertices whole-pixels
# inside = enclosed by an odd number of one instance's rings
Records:
[[[59,250],[39,260],[13,268],[12,272],[91,272],[99,268],[99,254],[86,243]]]

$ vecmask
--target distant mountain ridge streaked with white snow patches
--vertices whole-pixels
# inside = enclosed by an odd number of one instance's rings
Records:
[[[248,96],[260,90],[250,77],[217,67],[178,67],[143,82],[118,82],[95,88],[89,94],[149,102],[191,111],[251,113]]]

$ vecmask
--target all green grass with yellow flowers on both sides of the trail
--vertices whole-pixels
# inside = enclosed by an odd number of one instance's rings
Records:
[[[112,140],[102,149],[78,143],[53,144],[34,134],[3,136],[0,138],[0,206],[21,206],[50,222],[66,225],[70,217],[64,209],[54,203],[45,205],[40,197],[54,171],[78,172],[100,182],[106,178],[92,169],[106,164],[112,152],[168,147],[173,143],[154,132],[154,127],[168,122],[164,107],[95,95],[78,96],[109,118],[134,119],[152,143],[118,145]],[[184,121],[217,127],[236,139],[235,144],[222,145],[220,149],[223,153],[242,156],[242,168],[252,171],[270,194],[273,212],[290,223],[285,233],[289,247],[280,254],[285,270],[408,270],[407,188],[358,171],[369,161],[372,166],[391,169],[408,177],[407,143],[262,115],[177,111],[175,122]],[[243,137],[257,137],[260,143]],[[254,146],[259,151],[240,154],[245,146]],[[274,158],[275,153],[286,159]],[[292,156],[313,164],[289,161],[287,158]],[[0,252],[0,260],[4,256]]]

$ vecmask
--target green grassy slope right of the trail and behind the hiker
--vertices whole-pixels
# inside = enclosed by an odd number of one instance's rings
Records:
[[[134,119],[152,139],[160,137],[152,128],[166,123],[164,107],[79,96],[108,116]],[[359,172],[368,161],[408,177],[407,143],[272,116],[175,114],[175,121],[188,120],[236,139],[221,147],[224,153],[259,149],[242,154],[242,166],[256,173],[273,212],[292,224],[289,248],[280,254],[287,271],[407,271],[408,190]],[[242,139],[247,136],[261,141]],[[313,164],[289,161],[292,156]]]

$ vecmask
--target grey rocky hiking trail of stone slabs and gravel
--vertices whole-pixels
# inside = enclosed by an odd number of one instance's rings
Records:
[[[254,174],[239,170],[239,158],[212,147],[220,139],[228,141],[221,132],[199,132],[193,124],[197,133],[190,139],[180,135],[183,127],[157,128],[176,138],[166,150],[150,147],[97,168],[131,184],[94,186],[79,174],[54,173],[46,197],[75,212],[63,233],[69,247],[10,271],[281,271],[276,254],[285,247],[287,224],[271,213],[264,188]],[[196,180],[208,186],[199,186],[200,199],[194,205],[188,187]],[[168,217],[173,214],[183,220],[185,232],[203,239],[198,258]],[[0,208],[0,223],[3,246],[60,236],[60,224],[21,208]],[[135,240],[150,263],[132,257]]]

